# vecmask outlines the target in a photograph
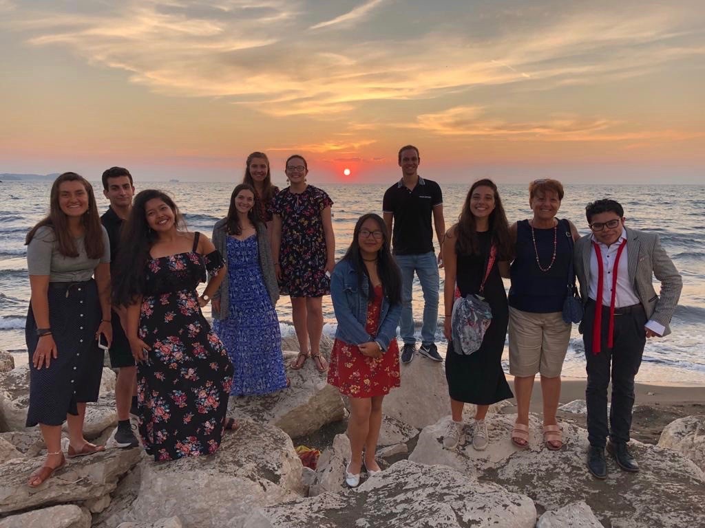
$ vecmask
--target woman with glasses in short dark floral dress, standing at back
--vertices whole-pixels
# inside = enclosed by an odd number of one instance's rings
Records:
[[[328,365],[321,356],[323,333],[321,297],[330,292],[330,274],[336,263],[331,206],[325,191],[306,183],[308,166],[302,156],[286,161],[289,187],[274,197],[272,255],[283,294],[291,297],[291,313],[299,341],[299,355],[291,364],[300,369],[314,358],[319,372]],[[327,274],[327,275],[326,275]]]

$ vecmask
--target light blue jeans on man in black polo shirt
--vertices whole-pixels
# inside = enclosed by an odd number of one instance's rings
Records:
[[[411,307],[414,272],[419,277],[424,293],[424,321],[421,326],[421,342],[430,345],[436,341],[436,326],[439,318],[439,265],[436,253],[429,251],[420,255],[396,255],[401,270],[401,320],[399,333],[405,344],[416,344],[414,337],[414,313]]]

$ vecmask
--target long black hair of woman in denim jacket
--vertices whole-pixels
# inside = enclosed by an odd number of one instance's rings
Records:
[[[382,291],[384,291],[384,296],[391,304],[398,304],[401,302],[401,272],[396,263],[396,260],[392,257],[391,251],[389,251],[389,233],[387,232],[387,225],[384,220],[379,215],[374,213],[367,213],[362,215],[355,224],[355,231],[353,232],[353,242],[350,244],[348,251],[345,252],[342,260],[348,260],[348,262],[353,265],[355,271],[357,272],[357,284],[362,291],[362,280],[367,281],[367,298],[374,299],[374,288],[369,282],[369,277],[367,276],[367,268],[364,266],[364,260],[362,260],[362,255],[360,254],[360,230],[362,230],[362,224],[366,220],[372,218],[379,227],[379,230],[383,233],[382,235],[382,246],[377,251],[377,274],[379,279],[382,281]]]

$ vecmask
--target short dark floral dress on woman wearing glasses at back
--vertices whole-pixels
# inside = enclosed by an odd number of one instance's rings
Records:
[[[287,187],[274,197],[274,214],[281,216],[281,293],[320,297],[331,291],[326,277],[326,237],[321,211],[333,205],[325,191],[308,185],[299,194]]]

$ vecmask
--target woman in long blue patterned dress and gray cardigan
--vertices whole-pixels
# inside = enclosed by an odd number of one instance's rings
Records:
[[[274,310],[279,288],[258,201],[252,186],[238,185],[228,216],[213,229],[213,243],[228,264],[228,277],[213,296],[213,328],[235,367],[234,396],[269,394],[287,386]]]

